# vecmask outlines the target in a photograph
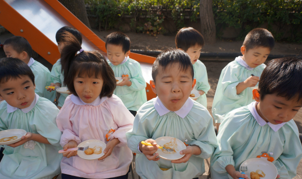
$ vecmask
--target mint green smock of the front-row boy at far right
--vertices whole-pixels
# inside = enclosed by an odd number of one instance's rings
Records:
[[[232,164],[239,171],[242,162],[256,158],[262,151],[273,152],[273,164],[280,178],[293,178],[302,157],[298,128],[293,120],[275,132],[268,124],[261,127],[248,106],[225,116],[217,140],[218,147],[211,157],[212,178],[232,179],[225,166]]]

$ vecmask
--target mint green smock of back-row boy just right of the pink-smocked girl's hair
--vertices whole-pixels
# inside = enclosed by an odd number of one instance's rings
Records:
[[[128,59],[125,63],[113,65],[107,60],[112,68],[115,77],[129,75],[131,86],[116,86],[113,94],[119,97],[128,110],[137,111],[140,106],[147,101],[146,82],[142,76],[140,64],[133,59]]]

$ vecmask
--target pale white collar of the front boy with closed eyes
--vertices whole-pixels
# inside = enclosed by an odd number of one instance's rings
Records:
[[[160,114],[160,116],[163,116],[168,112],[170,112],[170,110],[164,106],[164,104],[162,103],[159,97],[155,98],[153,104],[157,112]],[[178,111],[174,111],[174,112],[179,117],[185,118],[186,115],[188,115],[188,113],[191,111],[193,104],[194,104],[193,100],[191,98],[188,98],[185,104]]]

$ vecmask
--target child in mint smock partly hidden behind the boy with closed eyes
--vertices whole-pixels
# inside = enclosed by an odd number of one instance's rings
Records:
[[[210,85],[206,68],[204,64],[198,60],[204,45],[203,37],[193,28],[182,28],[176,35],[175,44],[177,49],[185,51],[190,56],[194,68],[194,78],[196,79],[196,86],[194,88],[198,90],[200,94],[196,101],[206,108],[206,94],[210,90]]]

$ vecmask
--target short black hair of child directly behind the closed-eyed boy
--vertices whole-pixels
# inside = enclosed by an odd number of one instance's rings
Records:
[[[193,28],[182,28],[178,31],[175,37],[176,48],[181,48],[185,52],[190,47],[195,47],[196,45],[201,48],[204,46],[203,36],[197,30]]]

